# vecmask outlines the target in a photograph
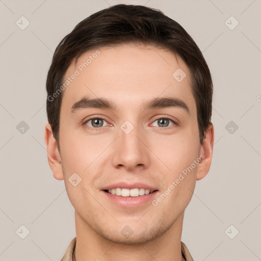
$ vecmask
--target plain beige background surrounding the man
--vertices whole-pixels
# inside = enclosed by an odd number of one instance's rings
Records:
[[[78,22],[118,3],[160,9],[179,22],[213,75],[214,158],[197,181],[182,241],[195,260],[261,260],[260,0],[0,1],[0,260],[60,260],[75,236],[64,181],[47,164],[46,74],[57,44]],[[30,22],[24,30],[16,25],[21,16]],[[23,134],[21,121],[29,126]],[[21,225],[30,230],[25,239]]]

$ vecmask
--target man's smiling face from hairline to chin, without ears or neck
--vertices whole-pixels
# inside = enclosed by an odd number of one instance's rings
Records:
[[[152,46],[95,52],[82,55],[76,67],[73,61],[65,75],[79,72],[63,93],[62,167],[54,176],[64,178],[77,218],[100,236],[150,241],[184,213],[202,164],[196,164],[202,147],[190,71],[175,54]],[[180,71],[173,76],[177,69],[186,73],[182,81]],[[96,98],[110,102],[90,102]],[[158,102],[148,103],[153,99]],[[122,196],[108,193],[116,188],[124,189],[116,190]],[[133,196],[126,196],[128,189]],[[143,189],[153,193],[142,195]]]

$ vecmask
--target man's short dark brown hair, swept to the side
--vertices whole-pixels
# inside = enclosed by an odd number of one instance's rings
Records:
[[[142,43],[165,48],[179,55],[190,69],[196,101],[199,141],[211,124],[213,84],[210,70],[197,44],[179,23],[162,11],[135,5],[115,5],[78,23],[58,44],[46,80],[46,110],[59,147],[62,94],[59,89],[70,63],[86,51],[104,46]],[[52,97],[52,98],[50,98]]]

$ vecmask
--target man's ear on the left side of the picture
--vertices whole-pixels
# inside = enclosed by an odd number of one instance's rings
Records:
[[[46,124],[45,126],[44,140],[47,148],[48,164],[53,171],[54,177],[58,180],[63,180],[61,156],[50,124]]]

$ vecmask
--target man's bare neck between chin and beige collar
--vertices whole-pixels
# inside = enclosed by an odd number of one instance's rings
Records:
[[[137,245],[123,245],[100,236],[75,211],[75,261],[185,261],[181,254],[183,219],[184,213],[181,213],[165,233],[152,241]]]

